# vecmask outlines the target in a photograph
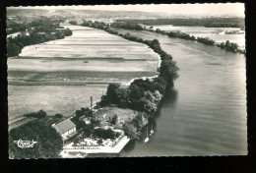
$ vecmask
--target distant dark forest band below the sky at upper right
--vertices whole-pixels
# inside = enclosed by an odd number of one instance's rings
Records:
[[[243,18],[173,18],[156,20],[116,20],[116,22],[126,22],[144,25],[172,25],[172,26],[203,26],[207,28],[240,28],[244,29]]]

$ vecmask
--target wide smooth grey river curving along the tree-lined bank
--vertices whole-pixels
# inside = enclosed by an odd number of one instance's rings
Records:
[[[158,38],[180,76],[150,123],[149,131],[155,130],[150,141],[128,144],[120,156],[247,154],[244,55],[153,32],[129,32]]]

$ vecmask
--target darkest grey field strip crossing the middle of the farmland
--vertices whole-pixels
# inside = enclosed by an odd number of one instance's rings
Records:
[[[155,76],[156,72],[103,72],[103,71],[9,71],[9,85],[81,86],[86,84],[127,83],[134,78]]]

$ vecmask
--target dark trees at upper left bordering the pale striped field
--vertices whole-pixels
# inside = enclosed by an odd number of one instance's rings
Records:
[[[27,45],[62,39],[65,36],[72,35],[71,29],[63,29],[59,26],[59,23],[56,24],[47,20],[32,21],[26,27],[26,31],[22,34],[16,37],[8,37],[7,56],[19,55],[23,47]]]

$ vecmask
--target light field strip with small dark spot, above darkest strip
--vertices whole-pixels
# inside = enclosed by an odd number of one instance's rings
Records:
[[[145,55],[143,55],[145,56]],[[157,71],[156,61],[147,60],[49,60],[11,58],[8,60],[9,71],[98,71],[98,72],[140,72]],[[102,68],[103,67],[103,68]]]

